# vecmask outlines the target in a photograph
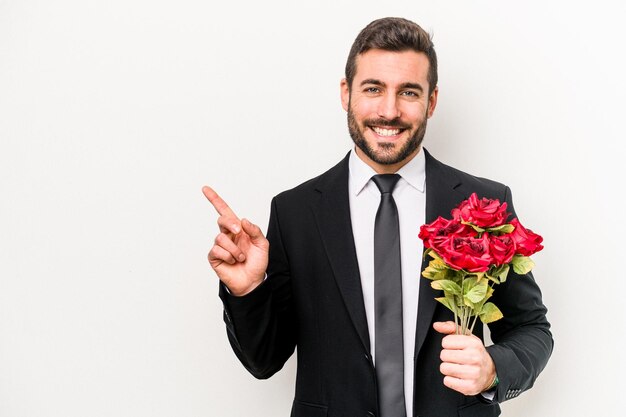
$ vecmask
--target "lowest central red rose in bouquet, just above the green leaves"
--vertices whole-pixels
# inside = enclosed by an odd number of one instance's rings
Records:
[[[435,239],[433,249],[450,267],[469,272],[485,272],[493,263],[487,235],[480,238],[448,236]]]

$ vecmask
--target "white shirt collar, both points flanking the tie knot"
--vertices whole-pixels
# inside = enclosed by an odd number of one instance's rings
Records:
[[[359,158],[354,150],[350,152],[350,193],[359,195],[376,171]],[[411,187],[420,193],[426,189],[426,158],[424,150],[420,151],[397,172]]]

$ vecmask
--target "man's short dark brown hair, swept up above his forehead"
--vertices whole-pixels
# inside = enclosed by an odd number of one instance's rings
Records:
[[[432,93],[437,86],[437,54],[431,36],[417,23],[401,17],[385,17],[367,25],[354,40],[346,62],[346,80],[352,87],[356,58],[370,49],[423,52],[428,58],[428,84]]]

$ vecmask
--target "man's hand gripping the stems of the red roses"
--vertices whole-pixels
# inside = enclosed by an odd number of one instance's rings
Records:
[[[447,335],[441,342],[441,366],[446,387],[465,395],[486,391],[496,377],[496,367],[482,340],[474,335],[454,334],[452,321],[436,322],[433,328]]]

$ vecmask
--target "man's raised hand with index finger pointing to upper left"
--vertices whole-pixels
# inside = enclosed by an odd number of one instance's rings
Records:
[[[270,244],[258,226],[239,220],[212,188],[202,187],[202,192],[220,215],[209,263],[231,294],[246,295],[265,278]]]

